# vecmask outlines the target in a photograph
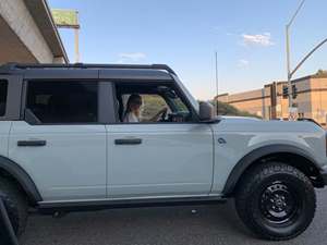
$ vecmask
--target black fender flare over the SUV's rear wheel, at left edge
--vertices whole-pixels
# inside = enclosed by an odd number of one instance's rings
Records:
[[[22,186],[32,205],[36,205],[38,201],[43,200],[35,183],[22,167],[8,158],[0,156],[0,170],[1,169],[8,172]]]

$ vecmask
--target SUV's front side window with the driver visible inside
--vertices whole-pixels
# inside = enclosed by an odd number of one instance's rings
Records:
[[[184,123],[193,121],[192,110],[171,85],[117,84],[116,91],[120,122]]]

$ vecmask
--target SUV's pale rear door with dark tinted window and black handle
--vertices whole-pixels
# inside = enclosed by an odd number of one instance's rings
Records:
[[[105,198],[97,72],[49,74],[24,82],[24,120],[12,124],[9,158],[26,170],[45,201]]]

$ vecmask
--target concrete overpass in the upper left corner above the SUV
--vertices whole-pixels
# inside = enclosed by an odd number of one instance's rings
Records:
[[[68,63],[46,0],[0,0],[0,63]]]

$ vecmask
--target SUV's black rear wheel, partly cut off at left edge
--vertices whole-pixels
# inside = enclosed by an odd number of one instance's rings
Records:
[[[20,236],[24,232],[27,222],[28,212],[26,197],[15,183],[1,176],[0,197],[3,200],[15,234]]]

